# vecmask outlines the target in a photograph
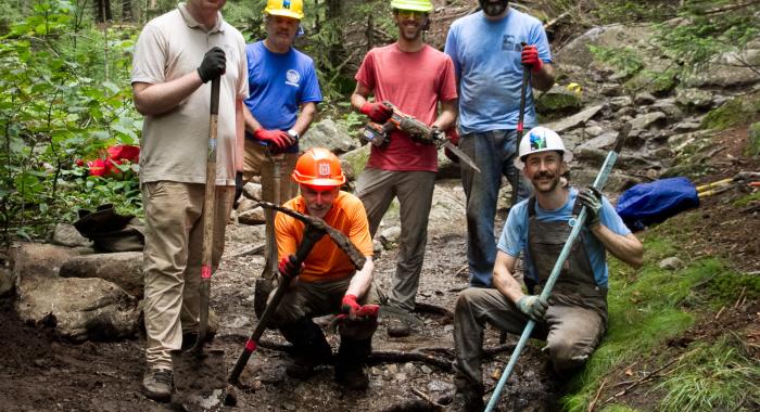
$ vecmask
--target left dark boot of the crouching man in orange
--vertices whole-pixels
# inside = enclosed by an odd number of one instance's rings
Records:
[[[286,366],[288,376],[306,379],[316,373],[319,365],[330,363],[332,349],[327,343],[321,329],[311,319],[303,318],[296,322],[280,326],[282,336],[293,344],[291,361]]]

